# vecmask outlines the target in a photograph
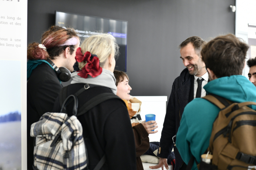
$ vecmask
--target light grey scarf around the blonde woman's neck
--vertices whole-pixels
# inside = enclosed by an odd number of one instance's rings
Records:
[[[86,79],[77,75],[78,73],[79,72],[74,72],[71,74],[71,77],[73,78],[71,84],[88,83],[92,85],[102,85],[107,88],[110,88],[113,94],[116,94],[116,78],[114,77],[114,74],[111,71],[102,68],[102,73],[99,76],[93,78],[90,75],[88,75]]]

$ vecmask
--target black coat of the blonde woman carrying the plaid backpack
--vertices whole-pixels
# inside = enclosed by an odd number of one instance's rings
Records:
[[[67,95],[75,94],[82,87],[84,87],[82,83],[69,85]],[[78,97],[78,109],[89,99],[102,93],[112,93],[112,91],[106,87],[87,89]],[[67,106],[68,113],[72,113],[72,109],[73,102]],[[53,112],[60,111],[58,97]],[[124,102],[119,99],[109,99],[78,116],[78,119],[83,127],[90,170],[93,170],[104,154],[107,161],[101,170],[136,170],[134,133]]]

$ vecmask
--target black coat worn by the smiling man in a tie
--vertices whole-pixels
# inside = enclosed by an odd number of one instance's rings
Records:
[[[160,158],[168,158],[174,146],[172,137],[176,135],[180,126],[180,119],[185,106],[194,98],[194,76],[185,68],[172,84],[172,92],[166,109],[163,130],[160,139],[161,150],[157,153]],[[183,164],[180,153],[174,147],[175,170]]]

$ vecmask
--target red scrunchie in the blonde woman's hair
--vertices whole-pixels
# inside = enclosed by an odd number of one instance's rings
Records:
[[[76,50],[76,61],[87,62],[82,70],[78,71],[78,75],[80,77],[86,79],[88,75],[90,75],[94,78],[102,73],[102,68],[99,66],[99,58],[97,57],[97,55],[91,54],[89,51],[86,51],[83,55],[80,47]]]

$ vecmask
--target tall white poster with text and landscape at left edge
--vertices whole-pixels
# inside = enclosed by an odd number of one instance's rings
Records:
[[[26,170],[27,0],[0,0],[0,170]]]

